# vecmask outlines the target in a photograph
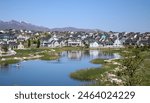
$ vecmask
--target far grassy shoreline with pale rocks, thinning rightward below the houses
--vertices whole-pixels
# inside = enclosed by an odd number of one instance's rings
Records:
[[[110,50],[111,49],[111,50]],[[32,59],[41,59],[41,60],[55,60],[59,58],[59,53],[62,51],[70,51],[70,50],[104,50],[104,51],[112,51],[118,50],[119,48],[82,48],[82,47],[62,47],[62,48],[27,48],[14,50],[13,54],[5,54],[1,55],[1,62],[7,63],[7,61],[15,60],[18,62],[22,60],[32,60]],[[15,52],[15,54],[14,54]],[[2,64],[0,62],[0,64]]]

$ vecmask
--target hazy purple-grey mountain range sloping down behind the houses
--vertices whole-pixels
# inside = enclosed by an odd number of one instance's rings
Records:
[[[64,28],[47,28],[43,26],[37,26],[33,25],[31,23],[26,23],[24,21],[16,21],[11,20],[8,22],[1,21],[0,20],[0,30],[6,30],[6,29],[16,29],[16,30],[34,30],[34,31],[84,31],[84,32],[96,32],[96,31],[102,31],[99,29],[80,29],[80,28],[74,28],[74,27],[64,27]]]

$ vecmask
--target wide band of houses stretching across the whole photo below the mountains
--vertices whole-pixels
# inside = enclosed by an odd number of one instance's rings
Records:
[[[20,32],[19,32],[20,33]],[[124,47],[125,45],[150,45],[150,32],[146,33],[126,33],[126,32],[0,32],[0,47],[8,46],[12,49],[23,49],[23,42],[28,39],[39,39],[41,47],[64,47],[64,46],[87,46],[98,47]]]

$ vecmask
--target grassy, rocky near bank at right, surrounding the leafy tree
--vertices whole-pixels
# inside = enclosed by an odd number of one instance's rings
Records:
[[[104,49],[104,51],[107,52],[109,49]],[[103,51],[103,50],[102,50]],[[110,50],[111,51],[111,50]],[[139,53],[136,54],[136,51]],[[70,74],[70,77],[79,81],[88,81],[90,82],[87,84],[88,86],[124,86],[127,85],[127,81],[124,77],[122,77],[122,70],[124,67],[124,63],[128,63],[128,61],[124,60],[130,60],[130,58],[135,57],[136,55],[140,56],[141,59],[143,59],[143,62],[141,64],[137,65],[143,65],[143,69],[137,68],[138,71],[136,71],[137,75],[141,75],[141,72],[145,72],[144,75],[142,75],[142,81],[141,86],[149,86],[150,85],[150,55],[149,55],[150,48],[125,48],[120,49],[117,51],[121,58],[114,58],[114,59],[93,59],[91,62],[94,64],[102,64],[99,68],[89,68],[89,69],[80,69],[77,71],[74,71]],[[116,51],[111,51],[112,53],[115,53]],[[135,54],[132,54],[135,53]],[[129,58],[128,58],[129,56]],[[132,59],[132,61],[129,64],[126,65],[134,65],[138,61],[137,59]],[[131,64],[132,63],[132,64]],[[133,64],[134,63],[134,64]],[[136,66],[136,65],[135,65]],[[130,68],[132,69],[132,68]],[[128,69],[127,69],[128,71]],[[124,71],[123,71],[124,72]],[[128,71],[130,72],[130,70]],[[138,74],[139,73],[139,74]],[[140,78],[141,79],[141,78]],[[136,79],[135,79],[136,80]],[[86,84],[85,84],[86,85]],[[135,85],[134,85],[135,86]]]

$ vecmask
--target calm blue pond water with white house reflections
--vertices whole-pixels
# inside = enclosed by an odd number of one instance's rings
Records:
[[[20,66],[0,67],[0,85],[12,86],[76,86],[84,82],[71,79],[71,72],[101,65],[91,64],[94,58],[114,58],[114,54],[105,54],[98,50],[66,51],[61,58],[53,61],[29,60],[20,62]]]

